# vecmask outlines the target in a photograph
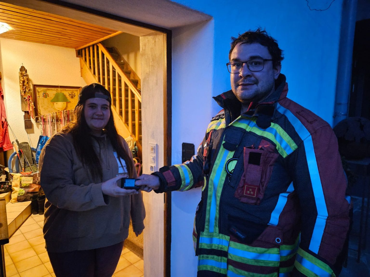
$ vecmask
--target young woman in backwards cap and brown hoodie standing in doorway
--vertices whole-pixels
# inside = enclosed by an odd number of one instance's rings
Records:
[[[121,178],[137,174],[115,129],[108,90],[85,86],[74,114],[40,155],[46,249],[57,277],[110,277],[130,217],[136,235],[144,229],[144,204],[140,191],[120,187]]]

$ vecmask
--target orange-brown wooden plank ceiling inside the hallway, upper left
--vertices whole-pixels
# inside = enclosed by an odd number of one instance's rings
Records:
[[[13,30],[0,37],[80,48],[121,33],[98,25],[0,2],[0,22]]]

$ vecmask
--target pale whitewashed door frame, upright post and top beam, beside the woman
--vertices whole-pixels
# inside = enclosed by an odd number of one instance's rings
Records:
[[[10,1],[11,2],[11,1]],[[171,153],[167,147],[168,137],[171,136],[171,92],[170,82],[171,76],[171,31],[155,26],[145,25],[145,28],[138,25],[133,25],[132,21],[125,18],[111,19],[109,14],[102,14],[91,9],[83,7],[74,7],[71,9],[66,6],[58,6],[55,4],[42,1],[25,1],[22,2],[24,7],[32,7],[46,11],[48,13],[56,13],[60,15],[64,13],[65,17],[74,20],[94,22],[102,24],[106,28],[122,31],[138,35],[140,37],[140,55],[142,65],[151,64],[151,67],[142,66],[141,78],[141,93],[142,93],[142,153],[143,153],[143,173],[150,173],[149,170],[149,144],[157,146],[157,169],[164,164],[171,163]],[[19,4],[19,3],[14,3]],[[129,23],[127,23],[128,21]],[[149,28],[150,27],[150,28]],[[16,99],[18,100],[18,99]],[[36,124],[35,124],[36,125]],[[166,197],[166,196],[165,196]],[[164,226],[166,224],[166,211],[163,195],[144,194],[145,206],[147,209],[147,218],[145,220],[146,229],[144,231],[144,260],[152,260],[151,263],[145,266],[145,276],[162,276],[165,271],[165,235]],[[164,234],[158,236],[158,234]]]

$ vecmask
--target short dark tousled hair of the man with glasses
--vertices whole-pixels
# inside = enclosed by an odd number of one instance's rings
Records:
[[[281,61],[284,59],[283,50],[279,48],[277,41],[273,37],[270,37],[265,29],[261,30],[261,28],[258,28],[255,31],[246,31],[241,35],[239,34],[237,38],[231,37],[231,41],[232,42],[229,52],[229,61],[231,57],[231,52],[235,48],[236,44],[238,44],[239,42],[247,44],[259,43],[260,45],[267,47],[272,57],[272,65],[274,68],[276,68],[276,66],[278,65],[281,65]]]

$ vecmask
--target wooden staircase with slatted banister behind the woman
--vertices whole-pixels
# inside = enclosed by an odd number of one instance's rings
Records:
[[[140,79],[115,48],[101,43],[77,50],[81,76],[86,83],[100,83],[112,97],[112,114],[118,133],[134,137],[141,158],[141,92]]]

